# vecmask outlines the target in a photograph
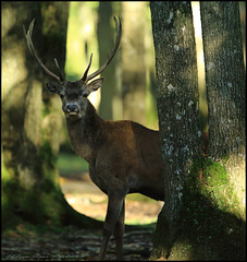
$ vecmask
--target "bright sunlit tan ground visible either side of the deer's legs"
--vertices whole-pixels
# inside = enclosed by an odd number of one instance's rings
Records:
[[[61,178],[62,191],[69,204],[77,212],[96,219],[103,221],[107,214],[107,195],[101,192],[88,178],[67,179]],[[125,201],[126,224],[149,224],[157,222],[157,216],[163,202],[151,201],[138,195],[127,195]]]

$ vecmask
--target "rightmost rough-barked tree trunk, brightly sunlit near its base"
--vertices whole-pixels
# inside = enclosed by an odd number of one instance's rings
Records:
[[[245,218],[246,79],[238,2],[201,2],[209,157],[222,164]],[[229,199],[232,210],[233,199]]]

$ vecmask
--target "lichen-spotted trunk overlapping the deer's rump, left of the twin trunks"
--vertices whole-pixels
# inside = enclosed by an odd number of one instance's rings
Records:
[[[190,163],[200,152],[196,47],[190,2],[150,2],[150,8],[165,195],[153,253],[168,257],[180,228]]]

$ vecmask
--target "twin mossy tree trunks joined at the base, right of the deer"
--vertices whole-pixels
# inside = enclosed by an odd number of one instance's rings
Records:
[[[202,3],[202,32],[207,27],[203,39],[208,52],[206,80],[207,86],[210,85],[209,156],[199,155],[201,136],[190,4],[151,2],[150,8],[165,183],[165,203],[158,219],[153,257],[245,260],[243,209],[237,187],[231,182],[237,176],[238,187],[243,189],[239,179],[243,176],[238,174],[245,172],[245,76],[237,3],[235,7]],[[236,63],[236,68],[229,63]],[[240,171],[232,175],[229,172],[232,166]]]

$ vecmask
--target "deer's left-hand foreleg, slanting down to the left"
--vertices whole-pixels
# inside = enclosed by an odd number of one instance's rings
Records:
[[[116,225],[116,221],[119,219],[120,214],[122,213],[124,198],[125,193],[121,194],[120,192],[116,192],[108,194],[108,211],[103,223],[103,240],[100,247],[100,252],[98,257],[99,260],[103,260],[106,257],[110,236],[112,235],[114,227]],[[120,245],[119,239],[120,238],[118,238],[118,245]]]

